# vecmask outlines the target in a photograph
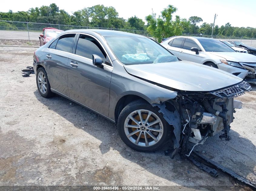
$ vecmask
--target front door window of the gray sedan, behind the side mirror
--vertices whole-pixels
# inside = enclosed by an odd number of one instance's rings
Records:
[[[103,62],[106,61],[106,53],[102,50],[97,41],[94,38],[85,35],[80,35],[75,54],[88,59],[92,59],[92,55],[96,54],[102,58]]]

